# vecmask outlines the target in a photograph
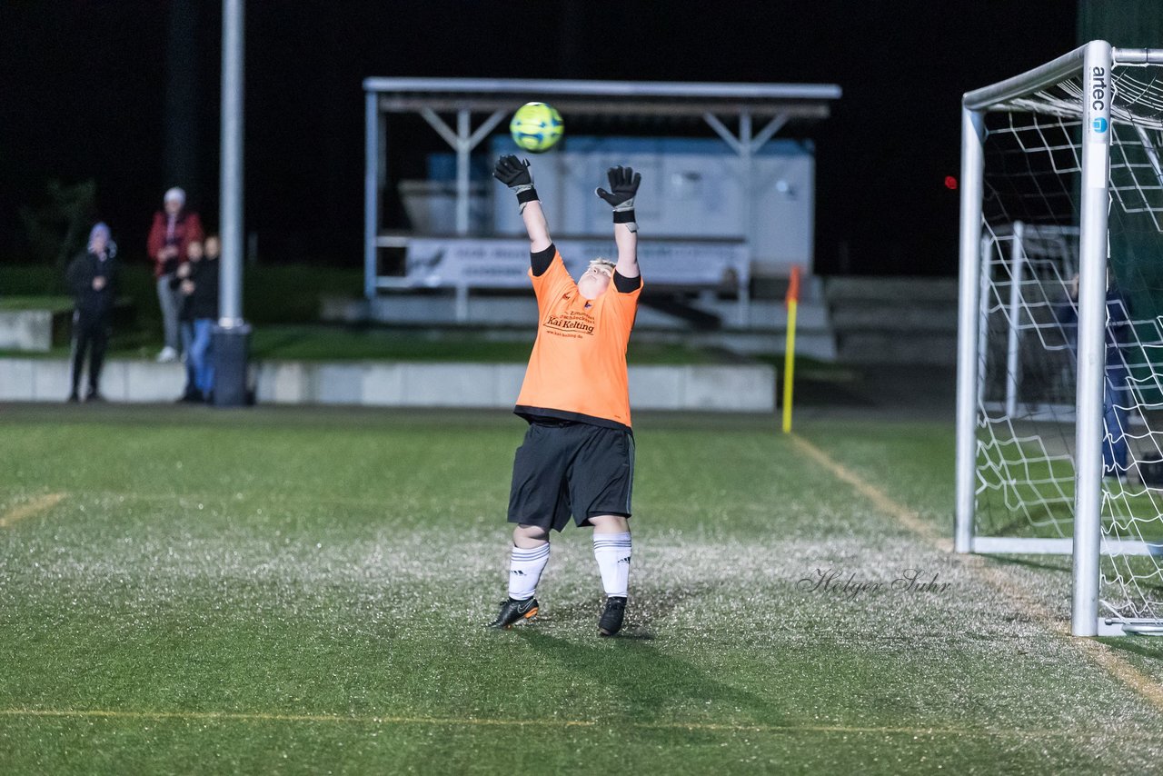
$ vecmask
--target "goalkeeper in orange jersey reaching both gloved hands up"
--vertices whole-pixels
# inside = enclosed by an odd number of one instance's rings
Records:
[[[642,176],[630,168],[607,172],[611,190],[595,193],[614,209],[618,261],[595,258],[575,282],[549,237],[528,161],[501,157],[493,175],[516,194],[529,234],[540,320],[515,408],[529,428],[513,462],[508,598],[490,627],[508,628],[537,613],[549,532],[561,532],[572,515],[593,528],[606,592],[598,633],[612,636],[622,627],[630,572],[634,433],[626,347],[642,292],[634,220]]]

